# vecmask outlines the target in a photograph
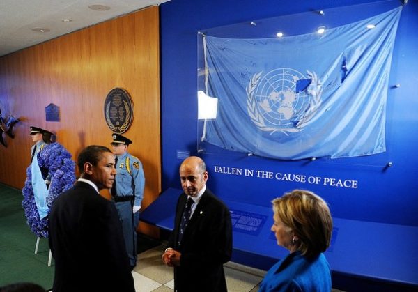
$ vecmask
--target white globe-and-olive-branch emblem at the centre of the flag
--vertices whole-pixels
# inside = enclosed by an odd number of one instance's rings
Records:
[[[318,106],[320,103],[320,82],[316,74],[308,72],[310,74],[304,76],[291,68],[274,69],[265,75],[262,73],[255,74],[249,82],[249,117],[266,132],[299,132],[302,128],[297,128],[297,125],[314,104]],[[311,102],[312,93],[316,100],[314,104]]]

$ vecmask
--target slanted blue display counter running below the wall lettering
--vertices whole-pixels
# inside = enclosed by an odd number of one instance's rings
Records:
[[[141,220],[173,230],[174,213],[182,190],[169,188],[141,213]],[[222,199],[222,198],[221,198]],[[288,251],[277,246],[272,226],[272,208],[224,200],[231,210],[233,256],[238,262],[268,269]],[[370,281],[392,287],[385,291],[418,291],[418,227],[333,218],[330,249],[325,252],[334,276],[353,284]],[[250,262],[245,255],[257,259]],[[346,286],[346,285],[345,285]],[[373,285],[371,285],[373,286]],[[374,285],[376,288],[376,285]],[[343,287],[342,287],[343,288]],[[381,287],[380,287],[381,289]],[[383,289],[384,290],[384,289]]]

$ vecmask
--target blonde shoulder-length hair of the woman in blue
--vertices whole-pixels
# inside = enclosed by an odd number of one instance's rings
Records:
[[[332,217],[327,203],[307,190],[293,190],[272,201],[274,214],[299,240],[296,249],[313,257],[330,247]]]

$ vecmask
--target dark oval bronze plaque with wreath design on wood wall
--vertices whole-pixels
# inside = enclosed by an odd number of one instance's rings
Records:
[[[112,89],[104,100],[104,119],[112,132],[122,134],[132,124],[134,104],[125,89]]]

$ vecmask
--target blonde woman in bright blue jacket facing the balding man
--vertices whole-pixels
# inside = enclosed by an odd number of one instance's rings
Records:
[[[293,190],[272,201],[277,245],[290,254],[276,263],[261,282],[264,291],[331,291],[332,218],[327,203],[314,192]]]

